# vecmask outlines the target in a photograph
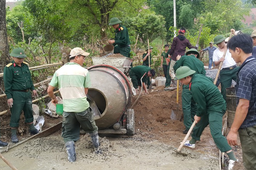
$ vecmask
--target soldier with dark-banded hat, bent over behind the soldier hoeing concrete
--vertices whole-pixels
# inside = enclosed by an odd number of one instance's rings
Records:
[[[182,57],[178,55],[176,57],[177,61],[174,64],[174,71],[176,72],[180,66],[188,66],[191,70],[195,70],[195,74],[205,75],[206,71],[204,70],[204,63],[198,59],[199,57],[200,54],[196,49],[193,48],[187,51],[186,55]],[[197,112],[197,106],[192,98],[191,91],[189,91],[189,85],[182,86],[182,110],[184,115],[184,125],[186,127],[183,133],[187,134]]]

